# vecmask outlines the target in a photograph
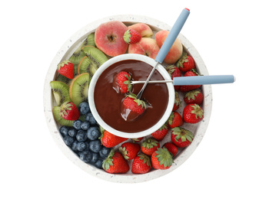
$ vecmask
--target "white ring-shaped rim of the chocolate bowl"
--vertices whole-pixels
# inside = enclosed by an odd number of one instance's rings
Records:
[[[141,54],[121,54],[116,57],[112,57],[111,59],[107,60],[104,64],[102,64],[101,67],[99,67],[98,70],[96,70],[95,74],[91,78],[91,82],[88,90],[88,103],[90,105],[92,115],[95,117],[96,121],[103,129],[107,130],[108,132],[111,132],[114,135],[118,135],[120,137],[124,137],[128,139],[138,139],[138,138],[150,135],[151,133],[160,129],[161,126],[163,126],[165,122],[168,120],[169,116],[171,116],[171,111],[175,103],[175,89],[172,83],[166,83],[168,87],[168,106],[165,109],[165,113],[162,116],[162,118],[154,126],[151,126],[151,128],[141,132],[121,132],[117,129],[112,128],[107,123],[105,123],[103,119],[101,119],[101,116],[99,116],[95,108],[94,88],[98,81],[98,78],[101,76],[101,73],[105,69],[110,67],[112,64],[115,64],[121,60],[141,60],[151,65],[151,67],[154,67],[156,63],[156,61],[151,57],[147,57]],[[165,68],[162,67],[161,64],[158,64],[158,66],[156,67],[156,70],[158,70],[158,72],[161,73],[161,76],[165,80],[171,80],[171,77],[168,74],[167,70],[165,70]]]

